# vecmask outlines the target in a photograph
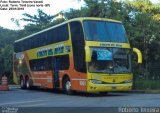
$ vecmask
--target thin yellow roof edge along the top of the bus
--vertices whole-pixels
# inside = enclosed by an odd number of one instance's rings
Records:
[[[33,36],[35,36],[35,35],[38,35],[38,34],[43,33],[43,32],[45,32],[45,31],[51,30],[51,29],[56,28],[56,27],[58,27],[58,26],[61,26],[61,25],[63,25],[63,24],[66,24],[66,23],[69,23],[69,22],[72,22],[72,21],[83,21],[83,20],[99,20],[99,21],[108,21],[108,22],[122,23],[121,21],[117,21],[117,20],[113,20],[113,19],[106,19],[106,18],[96,18],[96,17],[80,17],[80,18],[74,18],[74,19],[65,21],[65,22],[63,22],[63,23],[61,23],[61,24],[57,24],[57,25],[55,25],[55,26],[52,26],[52,27],[49,27],[49,28],[47,28],[47,29],[41,30],[41,31],[39,31],[39,32],[37,32],[37,33],[31,34],[31,35],[26,36],[26,37],[24,37],[24,38],[18,39],[18,40],[15,41],[15,43],[16,43],[16,42],[23,41],[23,40],[28,39],[28,38],[31,38],[31,37],[33,37]]]

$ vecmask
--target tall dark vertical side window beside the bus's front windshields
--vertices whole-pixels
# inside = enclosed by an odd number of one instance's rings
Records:
[[[79,72],[86,72],[84,35],[81,22],[71,22],[71,36],[74,67]]]

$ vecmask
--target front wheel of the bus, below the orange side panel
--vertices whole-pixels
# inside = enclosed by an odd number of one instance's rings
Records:
[[[71,81],[70,81],[70,79],[68,77],[64,80],[64,90],[65,90],[65,93],[67,95],[71,95],[72,94]]]

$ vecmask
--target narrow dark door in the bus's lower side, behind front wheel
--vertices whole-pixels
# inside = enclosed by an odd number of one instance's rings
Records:
[[[53,87],[54,88],[59,88],[59,67],[60,67],[60,61],[58,57],[54,58],[53,61]]]

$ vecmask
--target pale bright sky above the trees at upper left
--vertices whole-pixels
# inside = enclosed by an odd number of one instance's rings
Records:
[[[5,0],[8,1],[8,0]],[[160,0],[151,0],[153,3],[158,3]],[[81,6],[84,5],[83,0],[43,0],[43,4],[50,4],[50,7],[43,7],[39,8],[42,9],[45,13],[54,15],[57,14],[60,11],[66,11],[69,8],[74,8],[74,9],[79,9]],[[22,15],[23,13],[28,13],[30,15],[37,14],[37,9],[38,7],[32,7],[32,8],[25,8],[24,10],[0,10],[0,26],[3,28],[8,28],[8,29],[22,29],[23,25],[26,23],[23,21],[19,21],[20,23],[20,28],[18,28],[15,23],[11,21],[11,18],[15,19],[21,19],[24,16]]]

